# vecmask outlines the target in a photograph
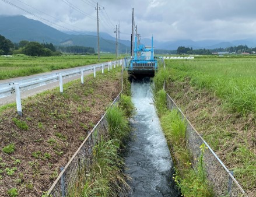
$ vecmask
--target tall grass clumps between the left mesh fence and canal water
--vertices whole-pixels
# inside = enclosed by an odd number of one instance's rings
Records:
[[[130,109],[134,109],[134,104],[131,97],[124,94],[117,105],[108,108],[108,131],[100,136],[99,142],[93,147],[93,163],[89,173],[86,176],[81,173],[75,187],[70,189],[69,196],[127,195],[129,185],[128,177],[123,172],[125,164],[122,152],[129,138],[128,117],[133,114],[127,114]]]

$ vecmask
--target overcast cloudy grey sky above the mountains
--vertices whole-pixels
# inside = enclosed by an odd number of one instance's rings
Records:
[[[97,31],[97,0],[0,0],[0,15],[24,15],[62,31]],[[68,5],[72,3],[72,7]],[[240,40],[256,37],[255,0],[99,0],[100,31],[131,37],[132,8],[142,38],[158,41]],[[26,5],[26,4],[27,5]],[[31,8],[33,7],[33,8]],[[36,9],[34,9],[36,8]],[[79,9],[79,10],[78,10]],[[31,15],[31,13],[33,16]],[[40,19],[38,19],[40,17]]]

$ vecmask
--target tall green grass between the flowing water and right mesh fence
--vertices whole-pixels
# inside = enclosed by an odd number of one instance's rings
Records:
[[[156,83],[159,83],[159,81]],[[158,92],[155,89],[155,105],[160,116],[160,123],[166,136],[167,144],[176,164],[176,174],[174,174],[173,179],[177,187],[184,196],[214,196],[212,188],[209,187],[209,183],[206,180],[204,164],[205,145],[200,147],[201,156],[198,159],[197,167],[193,169],[190,161],[191,157],[186,148],[185,132],[187,124],[181,118],[177,109],[167,110],[166,92],[161,89],[162,86],[158,87]]]

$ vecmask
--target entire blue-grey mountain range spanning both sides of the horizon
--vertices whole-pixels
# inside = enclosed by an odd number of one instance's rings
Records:
[[[70,34],[62,32],[37,20],[28,19],[25,16],[0,16],[0,34],[9,40],[19,43],[21,40],[38,41],[39,43],[52,43],[54,45],[80,45],[85,47],[97,48],[97,33],[85,31],[81,34]],[[157,37],[157,35],[155,36]],[[120,51],[129,52],[129,40],[120,40]],[[151,45],[151,39],[142,38],[141,43]],[[154,40],[154,47],[163,50],[177,50],[178,47],[198,48],[226,48],[235,45],[256,47],[256,39],[244,40],[176,40],[176,41],[157,41]],[[115,52],[115,37],[110,34],[100,32],[100,51]]]

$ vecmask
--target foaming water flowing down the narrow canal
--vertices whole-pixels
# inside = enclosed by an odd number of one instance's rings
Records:
[[[180,196],[172,180],[173,161],[152,100],[150,82],[132,82],[132,101],[137,114],[131,120],[134,135],[128,143],[125,173],[129,196]]]

